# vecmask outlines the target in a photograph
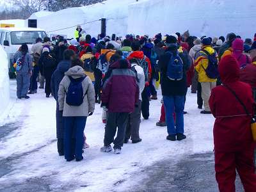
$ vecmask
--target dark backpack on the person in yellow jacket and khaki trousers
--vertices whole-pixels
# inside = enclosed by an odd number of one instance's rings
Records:
[[[208,67],[204,68],[205,74],[207,77],[210,79],[217,79],[219,77],[219,72],[218,72],[218,60],[215,56],[215,54],[209,54],[209,52],[202,50],[205,54],[207,54],[207,59],[208,59]]]

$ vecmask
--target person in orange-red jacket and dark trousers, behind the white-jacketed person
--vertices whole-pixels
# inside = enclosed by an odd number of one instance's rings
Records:
[[[138,60],[138,65],[140,65],[140,63],[143,63],[143,60],[148,63],[148,79],[145,78],[145,88],[141,93],[141,97],[142,97],[141,113],[143,118],[147,120],[149,117],[149,99],[148,99],[149,95],[147,90],[148,90],[149,81],[152,74],[152,67],[151,67],[150,60],[147,58],[147,56],[144,55],[143,51],[140,51],[140,42],[133,42],[131,47],[132,47],[132,52],[130,56],[127,58],[127,60],[129,61],[131,61],[132,59]],[[147,75],[145,74],[145,77],[146,76]]]

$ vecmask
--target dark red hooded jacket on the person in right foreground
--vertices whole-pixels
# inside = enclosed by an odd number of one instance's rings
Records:
[[[234,56],[225,56],[218,67],[221,81],[234,90],[246,109],[253,113],[252,89],[249,84],[239,81],[238,66]],[[236,97],[225,86],[217,86],[212,89],[209,105],[216,118],[213,129],[216,152],[252,149],[251,116],[246,115]]]

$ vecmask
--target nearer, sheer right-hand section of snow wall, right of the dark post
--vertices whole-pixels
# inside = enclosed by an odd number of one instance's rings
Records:
[[[128,32],[220,36],[233,31],[243,38],[255,33],[255,0],[142,1],[129,6]]]

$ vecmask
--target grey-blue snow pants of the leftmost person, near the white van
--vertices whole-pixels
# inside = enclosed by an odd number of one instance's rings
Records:
[[[17,97],[25,97],[28,94],[29,89],[29,74],[19,74],[16,76],[17,81]]]

